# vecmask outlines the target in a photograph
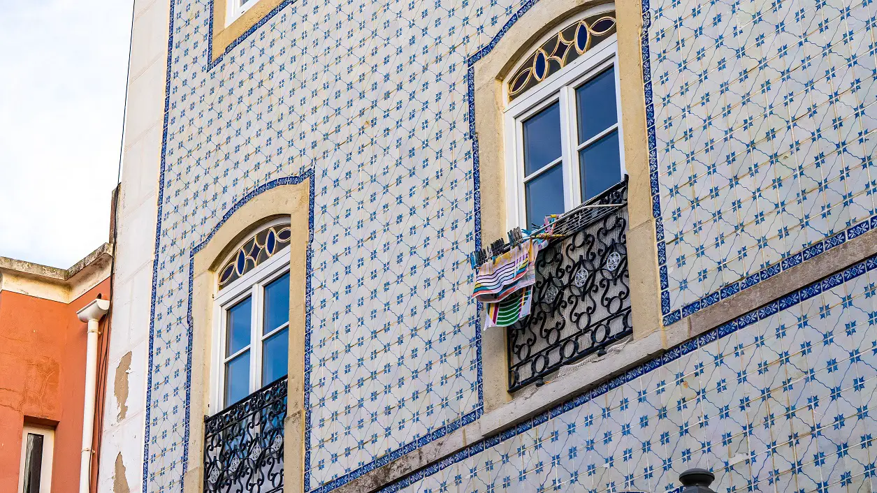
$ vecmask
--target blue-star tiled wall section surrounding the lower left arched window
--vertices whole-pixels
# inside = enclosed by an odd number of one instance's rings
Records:
[[[298,0],[210,62],[210,0],[172,4],[145,491],[179,489],[189,257],[275,180],[315,182],[309,489],[481,412],[467,53],[517,5]],[[199,418],[194,418],[199,419]]]

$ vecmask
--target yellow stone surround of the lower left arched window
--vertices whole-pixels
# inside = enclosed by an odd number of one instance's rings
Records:
[[[183,491],[203,490],[203,416],[210,408],[210,372],[214,336],[214,296],[217,280],[232,250],[263,225],[289,220],[289,375],[287,417],[284,423],[284,488],[303,490],[304,477],[304,332],[307,251],[309,249],[310,180],[271,188],[246,201],[229,216],[193,259],[192,394],[189,470]]]

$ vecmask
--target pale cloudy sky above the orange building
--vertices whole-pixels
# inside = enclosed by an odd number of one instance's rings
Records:
[[[107,241],[132,0],[0,0],[0,257],[67,269]]]

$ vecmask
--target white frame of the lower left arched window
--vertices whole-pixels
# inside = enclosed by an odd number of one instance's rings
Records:
[[[289,219],[277,221],[277,224],[289,222]],[[274,225],[269,222],[262,228]],[[261,229],[260,229],[261,230]],[[243,243],[241,243],[243,244]],[[237,253],[238,249],[234,252]],[[210,370],[210,413],[222,411],[230,404],[225,402],[225,363],[238,356],[244,349],[239,350],[232,356],[225,356],[225,333],[228,321],[228,309],[235,306],[239,301],[250,297],[252,299],[253,313],[250,320],[250,392],[262,388],[262,343],[272,335],[277,334],[284,328],[289,328],[289,320],[280,327],[267,334],[262,334],[262,324],[265,316],[265,286],[271,284],[284,274],[289,273],[289,246],[275,253],[262,264],[257,265],[252,271],[246,272],[232,284],[225,286],[214,296],[213,303],[213,343],[210,361],[213,363]]]

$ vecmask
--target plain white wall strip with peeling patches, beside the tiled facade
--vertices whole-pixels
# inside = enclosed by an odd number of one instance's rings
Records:
[[[112,333],[97,484],[101,492],[119,490],[114,486],[118,483],[116,460],[120,453],[128,488],[143,488],[146,365],[170,4],[168,0],[135,0],[134,4]],[[127,376],[127,411],[124,419],[118,419],[122,403],[116,398],[114,382],[118,365],[129,351],[132,361]]]

